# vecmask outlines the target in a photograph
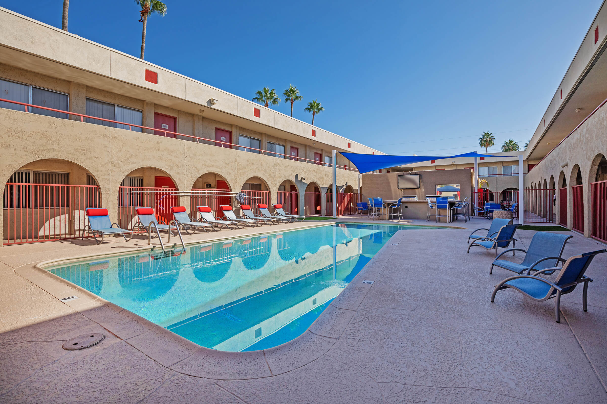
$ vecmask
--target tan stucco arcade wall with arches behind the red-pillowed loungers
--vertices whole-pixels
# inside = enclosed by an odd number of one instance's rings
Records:
[[[4,108],[0,108],[0,122],[2,188],[16,170],[30,162],[66,160],[84,167],[97,179],[102,204],[113,221],[117,220],[118,187],[127,174],[141,167],[164,171],[174,180],[178,190],[190,190],[205,173],[222,175],[234,190],[240,190],[247,179],[260,177],[268,184],[273,201],[285,179],[293,180],[300,190],[305,190],[308,183],[316,182],[324,187],[321,188],[323,192],[333,182],[330,167],[154,134]],[[52,167],[46,169],[53,170]],[[300,180],[302,177],[305,177],[305,183]],[[337,184],[356,187],[357,182],[358,172],[337,170]],[[189,208],[189,197],[182,197],[181,205]],[[300,206],[304,206],[303,192],[300,193]]]

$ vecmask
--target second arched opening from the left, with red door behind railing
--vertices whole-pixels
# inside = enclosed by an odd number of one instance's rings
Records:
[[[118,226],[132,229],[137,208],[154,208],[158,222],[172,220],[171,207],[179,204],[177,186],[166,171],[141,167],[131,171],[118,188]]]

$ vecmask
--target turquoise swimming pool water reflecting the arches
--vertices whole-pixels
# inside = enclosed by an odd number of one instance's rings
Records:
[[[333,224],[78,262],[50,272],[222,351],[294,339],[401,229]]]

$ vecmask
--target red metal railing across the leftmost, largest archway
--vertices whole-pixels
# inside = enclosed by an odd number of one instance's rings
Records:
[[[101,206],[97,185],[25,184],[4,187],[4,245],[81,237],[86,208]],[[89,235],[87,234],[87,237]]]

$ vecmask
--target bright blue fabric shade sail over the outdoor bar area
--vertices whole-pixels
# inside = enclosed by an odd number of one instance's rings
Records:
[[[391,156],[387,154],[359,154],[340,151],[345,158],[350,160],[361,174],[370,171],[382,170],[383,168],[396,167],[397,165],[413,164],[422,161],[453,159],[455,157],[503,157],[492,154],[479,154],[475,151],[455,156]]]

